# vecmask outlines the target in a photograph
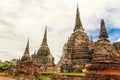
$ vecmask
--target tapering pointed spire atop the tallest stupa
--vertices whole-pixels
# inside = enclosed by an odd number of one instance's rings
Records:
[[[78,7],[78,4],[77,4],[77,11],[76,11],[76,21],[75,21],[75,28],[74,28],[74,31],[77,30],[77,29],[82,29],[82,22],[81,22],[81,19],[80,19],[80,14],[79,14],[79,7]]]

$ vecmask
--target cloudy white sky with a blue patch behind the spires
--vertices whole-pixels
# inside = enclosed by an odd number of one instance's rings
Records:
[[[47,26],[48,45],[57,63],[73,33],[77,4],[88,36],[98,39],[104,19],[111,43],[120,41],[120,0],[0,0],[0,59],[21,57],[28,37],[33,54]]]

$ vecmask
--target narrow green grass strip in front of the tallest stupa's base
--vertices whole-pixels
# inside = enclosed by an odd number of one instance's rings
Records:
[[[41,72],[42,75],[62,75],[62,76],[73,76],[73,77],[83,77],[85,73],[52,73],[52,72]]]

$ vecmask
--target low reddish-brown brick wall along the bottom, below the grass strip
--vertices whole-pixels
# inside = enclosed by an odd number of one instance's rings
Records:
[[[49,76],[52,80],[120,80],[120,75],[109,74],[86,74],[85,77],[63,75],[42,75],[42,76]]]

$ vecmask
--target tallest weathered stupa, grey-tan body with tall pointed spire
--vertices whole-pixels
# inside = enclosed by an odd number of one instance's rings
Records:
[[[60,72],[82,72],[85,64],[90,63],[92,54],[93,40],[89,39],[84,32],[81,23],[79,8],[76,11],[76,22],[73,34],[69,37],[63,47],[61,63],[57,64],[56,71]]]

